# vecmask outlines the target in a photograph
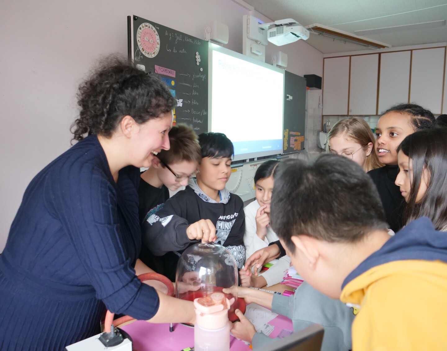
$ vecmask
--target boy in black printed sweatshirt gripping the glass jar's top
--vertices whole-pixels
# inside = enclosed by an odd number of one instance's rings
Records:
[[[191,244],[215,241],[234,256],[238,268],[245,260],[244,202],[225,188],[234,154],[223,133],[199,135],[202,161],[196,179],[164,203],[143,223],[143,243],[156,256],[184,250]],[[173,277],[169,277],[173,278]]]

